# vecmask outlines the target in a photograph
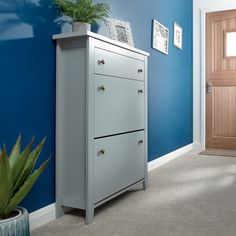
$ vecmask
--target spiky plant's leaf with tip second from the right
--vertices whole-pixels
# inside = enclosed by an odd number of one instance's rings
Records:
[[[37,145],[37,147],[29,154],[27,161],[25,163],[24,169],[21,173],[21,176],[17,180],[15,186],[14,186],[14,193],[19,190],[19,188],[22,186],[22,184],[25,182],[25,180],[29,177],[29,175],[32,173],[35,163],[37,162],[37,159],[43,149],[45,138],[41,140],[41,142]]]

